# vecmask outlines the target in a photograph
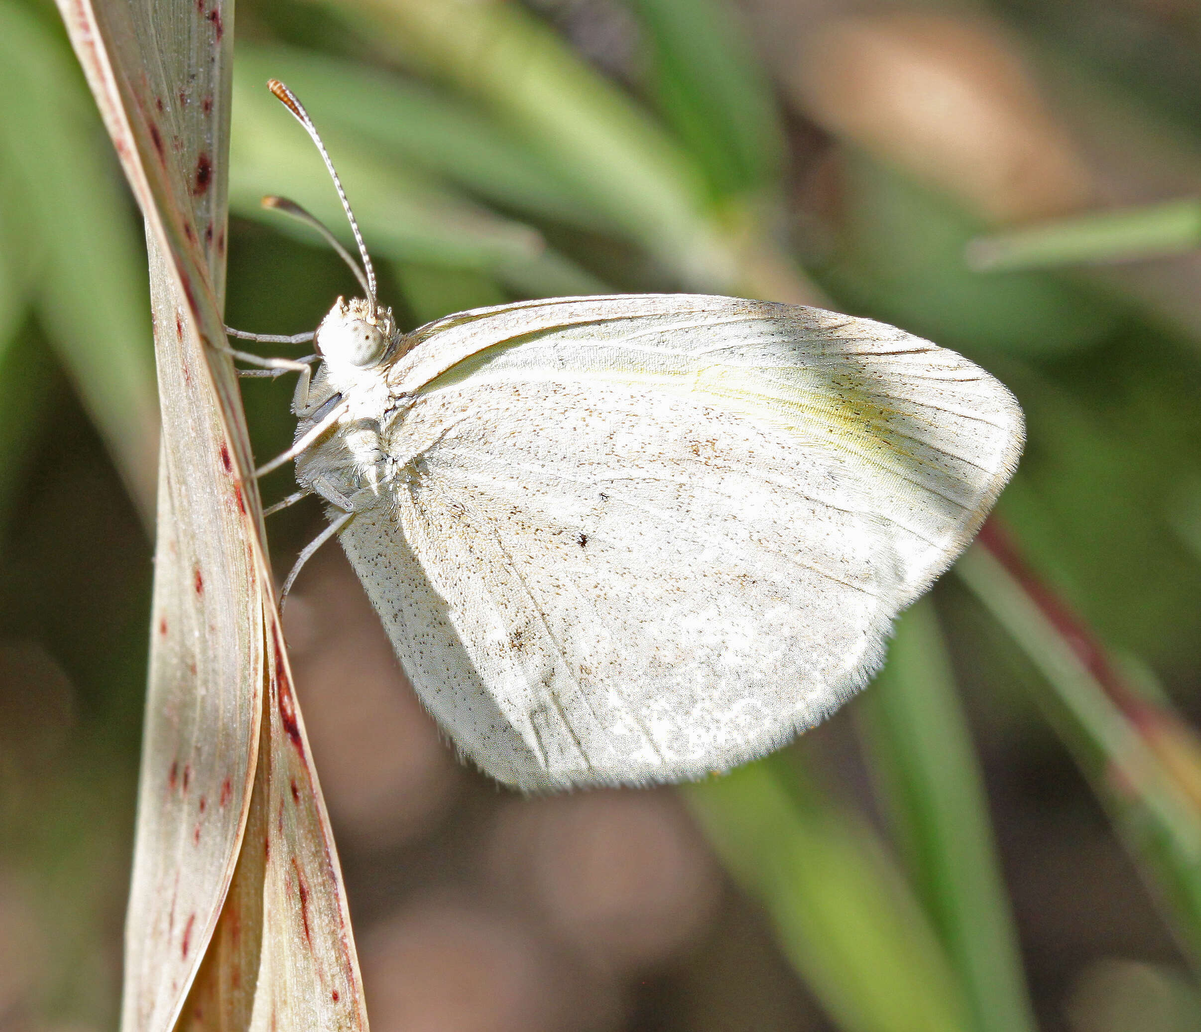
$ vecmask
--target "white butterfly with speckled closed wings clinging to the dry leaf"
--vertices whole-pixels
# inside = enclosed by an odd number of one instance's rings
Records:
[[[270,467],[329,503],[305,556],[339,535],[422,700],[524,789],[699,777],[813,727],[1021,451],[1005,387],[870,320],[634,294],[402,334],[360,250]]]

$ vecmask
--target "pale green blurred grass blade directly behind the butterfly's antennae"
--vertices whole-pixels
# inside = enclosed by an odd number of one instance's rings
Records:
[[[353,238],[316,149],[258,78],[234,73],[229,207],[301,239],[312,231],[263,211],[279,193],[299,202],[353,250]],[[474,205],[425,173],[384,162],[369,141],[329,133],[329,148],[372,252],[401,262],[474,269],[520,293],[598,293],[604,287],[536,229]]]

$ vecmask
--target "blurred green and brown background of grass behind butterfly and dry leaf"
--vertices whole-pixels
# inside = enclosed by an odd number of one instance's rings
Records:
[[[878,682],[681,792],[456,766],[336,549],[286,618],[374,1027],[1201,1028],[1201,7],[243,0],[227,321],[354,284],[820,303],[1020,398]],[[115,1024],[155,473],[145,260],[52,6],[0,0],[0,1028]],[[291,384],[246,381],[256,452]],[[268,502],[288,490],[280,471]],[[286,571],[322,524],[273,517]]]

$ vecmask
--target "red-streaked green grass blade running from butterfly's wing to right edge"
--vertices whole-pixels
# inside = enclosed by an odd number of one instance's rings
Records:
[[[1201,970],[1201,741],[1110,663],[1089,630],[986,524],[956,572],[1034,662],[1038,702],[1109,810]]]

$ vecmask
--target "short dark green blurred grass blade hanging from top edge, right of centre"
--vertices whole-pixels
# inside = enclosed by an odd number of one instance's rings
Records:
[[[627,0],[650,44],[659,111],[715,198],[775,185],[784,142],[771,85],[723,0]]]

